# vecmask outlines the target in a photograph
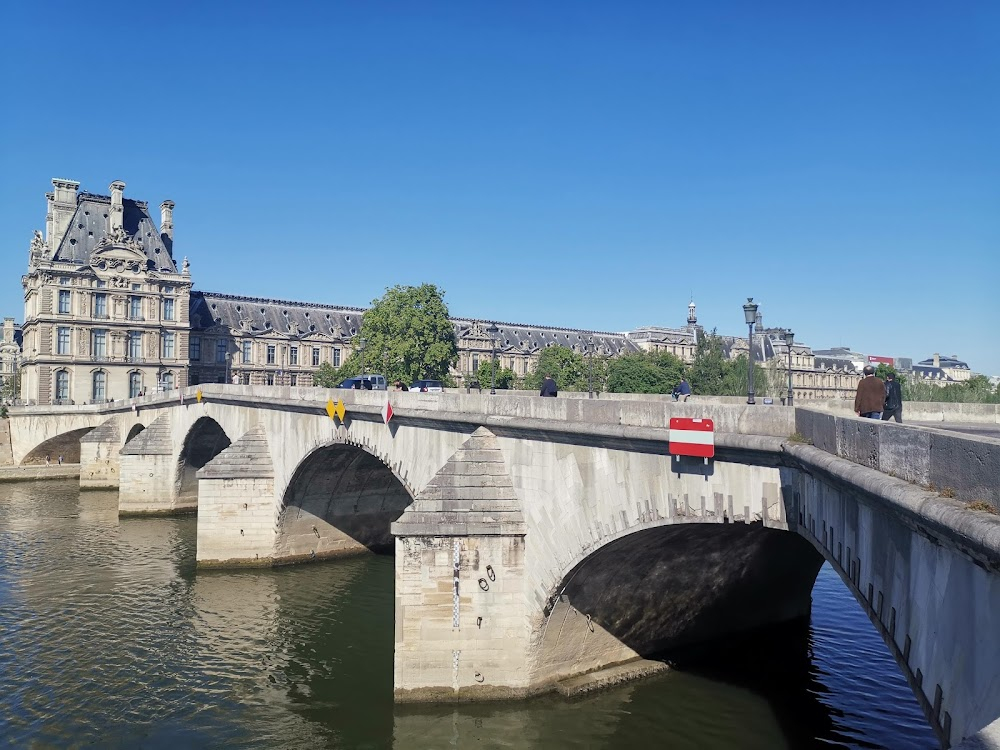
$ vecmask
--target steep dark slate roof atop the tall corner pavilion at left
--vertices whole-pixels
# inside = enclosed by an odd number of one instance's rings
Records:
[[[122,199],[122,225],[125,233],[134,239],[152,262],[157,271],[177,273],[174,263],[173,243],[167,235],[161,235],[149,215],[149,205],[145,201],[132,198]],[[69,229],[56,248],[52,259],[88,265],[90,256],[97,245],[108,235],[108,214],[111,197],[95,193],[80,193],[76,199],[76,212],[69,223]]]

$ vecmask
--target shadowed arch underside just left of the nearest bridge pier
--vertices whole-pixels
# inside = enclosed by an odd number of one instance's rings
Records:
[[[391,554],[390,525],[411,502],[392,469],[363,448],[318,448],[302,460],[285,490],[275,560]]]

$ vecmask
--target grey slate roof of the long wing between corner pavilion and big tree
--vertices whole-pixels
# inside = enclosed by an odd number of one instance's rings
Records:
[[[204,330],[222,325],[245,333],[350,338],[361,328],[360,307],[319,305],[216,292],[191,292],[191,327]]]

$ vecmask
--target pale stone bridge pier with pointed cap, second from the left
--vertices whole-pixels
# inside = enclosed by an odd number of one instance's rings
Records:
[[[120,515],[170,515],[193,511],[192,502],[178,496],[177,456],[167,415],[155,419],[119,452]]]

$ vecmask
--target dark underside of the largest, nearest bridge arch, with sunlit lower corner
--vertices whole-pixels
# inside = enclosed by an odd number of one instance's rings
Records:
[[[578,562],[549,598],[537,679],[808,617],[822,564],[806,539],[761,523],[621,536]]]

